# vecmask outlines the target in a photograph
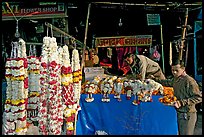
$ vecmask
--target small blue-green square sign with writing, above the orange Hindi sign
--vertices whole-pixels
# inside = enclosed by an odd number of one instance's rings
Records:
[[[160,25],[160,15],[159,14],[147,14],[147,24],[148,25]]]

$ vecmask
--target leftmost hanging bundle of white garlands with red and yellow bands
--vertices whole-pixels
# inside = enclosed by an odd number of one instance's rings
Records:
[[[7,90],[3,125],[6,135],[25,135],[27,131],[27,67],[25,41],[12,42],[11,58],[7,59],[5,66]]]

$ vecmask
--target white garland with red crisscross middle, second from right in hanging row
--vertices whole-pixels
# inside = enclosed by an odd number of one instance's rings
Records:
[[[66,121],[66,134],[74,134],[74,120],[75,112],[74,109],[74,91],[73,91],[73,78],[72,78],[72,68],[70,64],[70,56],[68,46],[63,46],[63,56],[62,56],[62,67],[61,67],[61,77],[62,77],[62,96],[64,105],[64,117]]]

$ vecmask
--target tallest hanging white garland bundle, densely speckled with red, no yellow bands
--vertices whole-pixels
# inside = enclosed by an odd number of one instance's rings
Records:
[[[44,37],[43,41],[39,128],[43,135],[60,135],[63,122],[59,58],[61,53],[58,53],[56,38]]]

